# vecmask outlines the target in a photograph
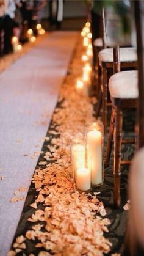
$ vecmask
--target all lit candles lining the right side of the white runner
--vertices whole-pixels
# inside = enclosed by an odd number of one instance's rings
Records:
[[[92,77],[92,33],[90,23],[82,29],[83,46],[82,77],[75,84],[76,92],[88,97]],[[103,183],[103,123],[89,123],[85,127],[85,137],[73,137],[71,148],[71,174],[78,191],[90,191],[92,186]]]

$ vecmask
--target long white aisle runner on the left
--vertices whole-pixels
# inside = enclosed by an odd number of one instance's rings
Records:
[[[52,32],[0,74],[0,255],[7,256],[77,32]],[[25,156],[24,156],[25,155]],[[26,156],[27,155],[27,156]],[[14,192],[23,186],[26,191]]]

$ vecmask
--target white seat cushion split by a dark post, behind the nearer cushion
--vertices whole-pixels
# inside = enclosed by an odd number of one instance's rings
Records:
[[[102,49],[98,57],[100,62],[113,62],[113,48]],[[137,61],[137,50],[133,47],[120,48],[120,61]]]

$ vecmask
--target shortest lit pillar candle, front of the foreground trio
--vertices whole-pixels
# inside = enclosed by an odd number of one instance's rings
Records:
[[[91,175],[88,168],[79,168],[76,170],[76,188],[81,191],[88,191],[91,186]]]

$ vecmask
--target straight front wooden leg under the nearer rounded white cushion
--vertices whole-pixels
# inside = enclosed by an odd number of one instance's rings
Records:
[[[121,141],[122,141],[123,115],[121,108],[115,108],[115,131],[114,131],[114,203],[120,206],[120,179],[121,179]]]

